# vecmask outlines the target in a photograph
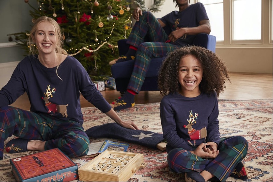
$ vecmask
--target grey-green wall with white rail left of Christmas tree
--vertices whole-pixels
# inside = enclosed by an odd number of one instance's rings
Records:
[[[36,0],[29,0],[29,4],[37,7]],[[24,50],[19,46],[12,46],[8,41],[7,34],[30,30],[32,26],[29,15],[31,7],[24,0],[1,0],[0,1],[0,63],[20,61],[24,58]]]

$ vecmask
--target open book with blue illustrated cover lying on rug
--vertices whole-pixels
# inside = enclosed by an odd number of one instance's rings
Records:
[[[106,149],[126,152],[128,147],[129,147],[129,144],[127,143],[120,143],[120,142],[110,141],[110,140],[99,141],[99,142],[90,144],[89,151],[86,156],[96,157],[98,154],[105,151]]]

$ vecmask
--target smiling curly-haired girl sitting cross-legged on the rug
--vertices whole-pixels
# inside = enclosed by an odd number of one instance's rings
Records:
[[[181,47],[168,55],[158,83],[160,118],[171,171],[186,181],[229,176],[247,179],[242,163],[248,143],[242,136],[220,138],[218,97],[229,80],[225,64],[203,47]]]

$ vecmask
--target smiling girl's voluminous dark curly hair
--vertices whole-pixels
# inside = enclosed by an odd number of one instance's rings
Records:
[[[169,53],[163,61],[158,76],[158,86],[161,95],[178,93],[181,88],[178,81],[178,65],[180,60],[192,55],[200,61],[203,68],[203,78],[199,84],[201,92],[211,95],[214,91],[219,97],[226,88],[225,80],[229,80],[225,64],[210,50],[198,46],[185,46]]]

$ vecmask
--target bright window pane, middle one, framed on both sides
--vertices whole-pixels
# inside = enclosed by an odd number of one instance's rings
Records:
[[[233,40],[261,40],[261,0],[233,1]]]

